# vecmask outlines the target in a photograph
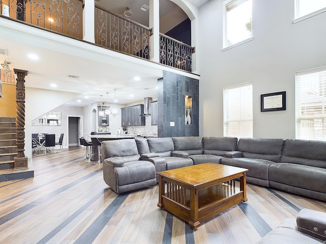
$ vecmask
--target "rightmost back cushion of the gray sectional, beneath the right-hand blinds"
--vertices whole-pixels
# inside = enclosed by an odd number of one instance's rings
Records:
[[[287,139],[281,162],[326,169],[326,141]]]

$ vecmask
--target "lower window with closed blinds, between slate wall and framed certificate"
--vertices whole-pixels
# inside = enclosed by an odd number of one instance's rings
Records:
[[[224,88],[224,136],[253,137],[252,83]]]

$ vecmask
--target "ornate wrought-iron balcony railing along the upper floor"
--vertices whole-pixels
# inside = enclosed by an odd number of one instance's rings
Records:
[[[80,0],[2,0],[9,13],[3,16],[38,26],[77,40],[89,41],[106,49],[127,55],[154,60],[162,65],[192,72],[194,47],[164,34],[159,34],[159,44],[152,43],[152,28],[134,22],[117,13],[94,4],[94,17],[87,13],[93,5]],[[91,7],[90,7],[91,6]],[[87,24],[94,19],[94,28]],[[93,34],[94,33],[94,34]],[[87,40],[85,37],[93,37]],[[155,52],[154,46],[158,47]],[[159,53],[157,57],[153,53]]]

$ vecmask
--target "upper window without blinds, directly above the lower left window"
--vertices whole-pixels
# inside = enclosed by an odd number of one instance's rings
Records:
[[[226,1],[223,48],[252,40],[252,0]]]

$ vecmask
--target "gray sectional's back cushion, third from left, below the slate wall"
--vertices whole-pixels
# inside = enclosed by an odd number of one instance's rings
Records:
[[[171,137],[147,138],[150,153],[157,153],[160,157],[170,157],[174,151],[174,144]]]

